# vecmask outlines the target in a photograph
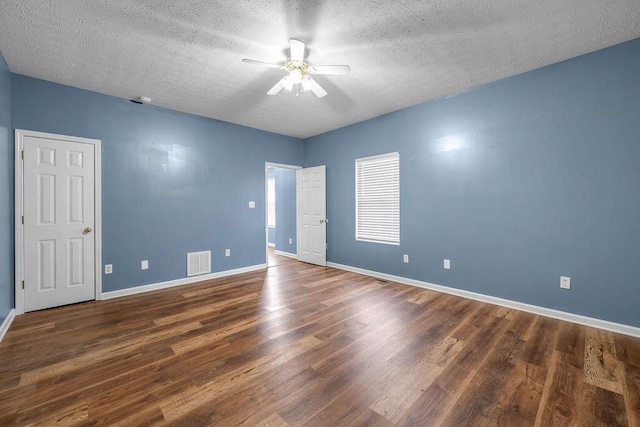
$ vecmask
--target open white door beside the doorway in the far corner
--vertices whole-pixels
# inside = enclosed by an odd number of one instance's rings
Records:
[[[298,260],[327,265],[326,167],[300,169],[298,188]]]

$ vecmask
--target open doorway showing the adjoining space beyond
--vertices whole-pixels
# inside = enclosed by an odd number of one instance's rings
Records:
[[[296,171],[300,166],[265,164],[266,261],[272,267],[297,259]]]

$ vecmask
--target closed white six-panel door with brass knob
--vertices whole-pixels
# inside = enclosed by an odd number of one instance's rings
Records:
[[[25,311],[95,299],[95,149],[23,139]]]

